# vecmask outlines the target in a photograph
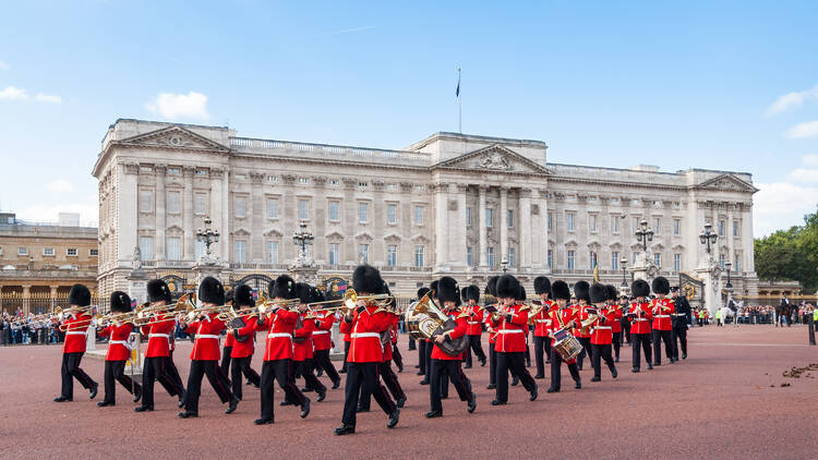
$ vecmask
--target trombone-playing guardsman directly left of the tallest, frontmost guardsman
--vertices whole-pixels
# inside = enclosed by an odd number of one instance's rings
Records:
[[[267,330],[267,348],[262,366],[262,413],[253,422],[256,425],[274,422],[274,380],[284,390],[285,401],[301,407],[301,419],[310,414],[310,398],[296,387],[292,378],[292,332],[296,330],[299,312],[281,306],[285,300],[296,298],[296,281],[287,275],[279,276],[269,283],[269,296],[273,298],[273,310],[266,316],[261,316],[256,324],[256,330]]]

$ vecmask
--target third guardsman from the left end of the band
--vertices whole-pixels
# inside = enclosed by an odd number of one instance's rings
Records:
[[[154,382],[159,380],[170,396],[179,397],[179,407],[184,404],[184,387],[181,380],[172,377],[170,367],[171,337],[176,328],[173,315],[167,312],[170,303],[170,289],[160,279],[147,282],[147,301],[152,312],[151,324],[142,326],[141,332],[147,336],[145,361],[142,365],[142,405],[133,410],[154,410]],[[173,366],[176,368],[176,366]]]

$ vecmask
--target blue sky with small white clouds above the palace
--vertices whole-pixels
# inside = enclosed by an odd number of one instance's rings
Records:
[[[95,221],[118,118],[399,148],[457,130],[549,160],[754,174],[756,234],[818,203],[818,3],[25,1],[0,14],[0,208]],[[163,96],[164,95],[164,96]]]

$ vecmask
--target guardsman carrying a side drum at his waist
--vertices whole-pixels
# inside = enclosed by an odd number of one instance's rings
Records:
[[[560,392],[563,356],[560,354],[556,344],[563,340],[563,337],[570,339],[570,334],[566,334],[566,331],[569,331],[578,322],[575,311],[568,307],[568,301],[570,301],[570,289],[568,289],[568,285],[563,280],[554,281],[554,283],[551,285],[551,292],[557,308],[551,312],[551,330],[549,331],[549,337],[552,338],[551,387],[548,389],[548,392]],[[576,358],[572,358],[566,362],[568,364],[570,376],[576,383],[576,388],[582,388]]]

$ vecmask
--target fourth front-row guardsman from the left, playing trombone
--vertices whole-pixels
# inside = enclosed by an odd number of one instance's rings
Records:
[[[214,308],[225,304],[225,288],[221,281],[206,277],[199,286],[199,301],[202,308]],[[202,378],[207,375],[207,382],[218,395],[221,403],[229,402],[227,413],[236,411],[239,398],[230,391],[230,384],[218,366],[219,334],[225,330],[225,322],[218,318],[213,310],[200,313],[196,320],[182,326],[188,334],[195,334],[193,350],[190,353],[190,374],[188,375],[188,396],[184,400],[184,412],[179,417],[191,419],[199,416],[199,396],[202,392]]]

